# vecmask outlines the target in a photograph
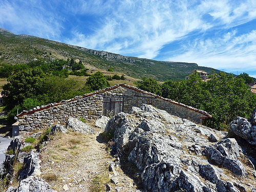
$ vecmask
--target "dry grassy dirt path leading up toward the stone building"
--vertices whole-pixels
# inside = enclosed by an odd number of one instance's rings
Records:
[[[53,189],[105,191],[108,184],[111,191],[136,191],[134,181],[121,168],[116,168],[118,176],[109,171],[115,158],[105,150],[100,137],[102,131],[96,131],[95,135],[57,134],[42,148],[41,177]]]

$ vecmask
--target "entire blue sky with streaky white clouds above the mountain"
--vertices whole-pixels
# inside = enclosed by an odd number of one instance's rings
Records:
[[[1,0],[0,28],[256,77],[255,0]]]

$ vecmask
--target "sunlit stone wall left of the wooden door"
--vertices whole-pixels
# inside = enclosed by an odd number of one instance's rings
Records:
[[[19,131],[42,129],[53,124],[65,124],[68,117],[90,120],[99,117],[102,113],[102,97],[77,98],[74,101],[62,102],[58,105],[46,106],[46,109],[18,117]]]

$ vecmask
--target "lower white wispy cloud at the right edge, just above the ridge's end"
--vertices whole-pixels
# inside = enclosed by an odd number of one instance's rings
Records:
[[[237,36],[228,32],[215,39],[196,39],[194,47],[184,46],[185,52],[166,60],[197,62],[226,72],[256,71],[256,30]],[[225,45],[225,46],[224,46]]]

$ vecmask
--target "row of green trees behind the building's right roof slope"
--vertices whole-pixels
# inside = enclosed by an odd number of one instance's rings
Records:
[[[250,118],[256,107],[256,94],[251,93],[246,79],[248,74],[245,73],[234,78],[232,74],[221,72],[213,73],[208,81],[203,81],[193,73],[188,80],[167,80],[160,85],[148,78],[137,85],[140,89],[208,112],[212,118],[204,120],[203,124],[224,131],[237,116]]]

